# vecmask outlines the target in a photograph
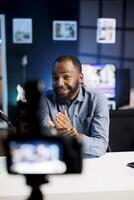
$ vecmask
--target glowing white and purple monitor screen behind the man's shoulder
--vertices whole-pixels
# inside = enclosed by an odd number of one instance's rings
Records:
[[[115,98],[115,69],[114,64],[82,64],[84,85]]]

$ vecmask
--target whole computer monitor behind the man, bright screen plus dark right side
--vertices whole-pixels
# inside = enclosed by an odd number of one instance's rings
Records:
[[[129,105],[130,69],[114,64],[82,64],[84,85],[106,95],[110,109]]]

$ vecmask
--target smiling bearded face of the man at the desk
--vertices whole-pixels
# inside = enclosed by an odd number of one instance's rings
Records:
[[[52,86],[62,99],[74,100],[79,92],[82,74],[71,60],[56,62],[52,69]]]

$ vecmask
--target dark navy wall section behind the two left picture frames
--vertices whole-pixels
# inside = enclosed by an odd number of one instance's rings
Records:
[[[7,71],[8,71],[8,100],[9,117],[14,121],[16,105],[16,86],[23,82],[22,57],[28,56],[26,67],[26,80],[42,79],[46,89],[51,87],[51,63],[62,54],[78,56],[77,41],[53,41],[53,20],[77,20],[79,1],[69,0],[40,0],[40,1],[3,1],[0,2],[0,12],[6,15],[6,40],[7,40]],[[12,19],[33,19],[33,43],[14,44],[12,41]]]

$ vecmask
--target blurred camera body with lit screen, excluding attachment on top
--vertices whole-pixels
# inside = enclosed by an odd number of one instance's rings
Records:
[[[11,174],[81,173],[81,143],[74,137],[12,135],[5,141]]]

